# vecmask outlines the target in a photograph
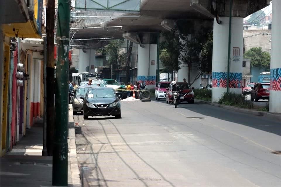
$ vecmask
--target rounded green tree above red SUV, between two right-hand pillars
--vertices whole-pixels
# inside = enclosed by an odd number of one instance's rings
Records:
[[[244,53],[244,58],[251,59],[251,67],[270,69],[270,53],[264,52],[261,47],[252,47]]]

